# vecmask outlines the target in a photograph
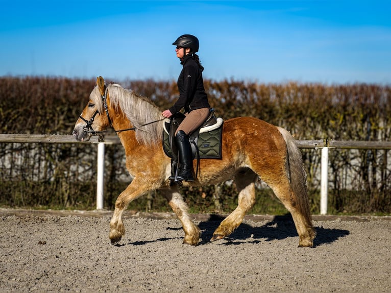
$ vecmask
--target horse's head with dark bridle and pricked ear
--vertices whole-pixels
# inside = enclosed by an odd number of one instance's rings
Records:
[[[105,94],[105,81],[100,76],[96,78],[96,87],[92,90],[88,104],[76,121],[75,129],[72,132],[77,140],[88,141],[92,135],[97,135],[110,126],[111,121]]]

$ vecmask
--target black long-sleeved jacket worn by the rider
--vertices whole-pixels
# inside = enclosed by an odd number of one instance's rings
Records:
[[[200,66],[191,55],[187,55],[181,64],[183,68],[177,82],[179,99],[174,106],[169,108],[169,111],[175,114],[182,108],[186,113],[195,109],[209,108]]]

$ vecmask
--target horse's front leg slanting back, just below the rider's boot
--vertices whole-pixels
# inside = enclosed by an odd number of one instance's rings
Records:
[[[169,206],[173,209],[174,213],[182,223],[185,237],[183,243],[196,246],[200,242],[201,230],[190,219],[188,214],[188,207],[183,201],[181,194],[178,191],[178,187],[172,186],[171,188],[163,188],[161,191],[164,193],[164,197],[167,199]]]

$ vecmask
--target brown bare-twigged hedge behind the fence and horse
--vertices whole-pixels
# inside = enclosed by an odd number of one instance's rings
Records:
[[[115,81],[150,97],[162,110],[178,92],[174,81]],[[2,133],[70,134],[87,103],[95,80],[56,77],[0,78]],[[391,88],[372,84],[260,84],[235,80],[205,81],[218,116],[254,116],[288,129],[296,139],[388,141],[391,131]],[[302,150],[313,212],[319,212],[320,151]],[[129,183],[124,152],[111,145],[106,152],[105,207]],[[329,211],[390,213],[391,167],[385,150],[330,151]],[[96,147],[79,144],[0,143],[0,205],[93,208]],[[219,191],[224,201],[216,198]],[[273,202],[267,188],[259,193]],[[198,211],[231,209],[234,186],[185,189]],[[200,197],[201,195],[201,197]],[[146,209],[164,206],[149,194]],[[221,205],[221,203],[225,205]],[[268,204],[262,202],[266,210]],[[191,205],[191,204],[190,204]],[[230,206],[231,205],[231,206]],[[272,204],[273,205],[273,204]],[[271,207],[273,209],[273,207]]]

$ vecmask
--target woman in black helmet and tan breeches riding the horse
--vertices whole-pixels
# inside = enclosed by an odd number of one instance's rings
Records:
[[[179,153],[177,180],[194,181],[189,135],[205,122],[210,109],[202,78],[204,67],[201,65],[199,56],[195,54],[199,49],[197,37],[182,35],[173,45],[176,45],[175,51],[183,66],[177,82],[179,99],[172,107],[163,111],[162,115],[165,118],[170,118],[182,108],[185,110],[186,117],[175,133],[175,144]],[[174,175],[170,177],[170,180],[174,179]]]

